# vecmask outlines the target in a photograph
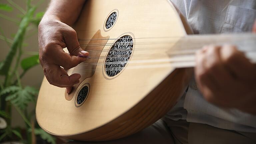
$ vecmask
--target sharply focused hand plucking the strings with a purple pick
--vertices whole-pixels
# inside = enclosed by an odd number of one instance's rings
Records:
[[[68,75],[66,70],[86,60],[89,53],[81,49],[76,31],[57,19],[42,20],[38,28],[39,60],[50,84],[72,90],[80,74]],[[69,53],[64,52],[63,48]]]

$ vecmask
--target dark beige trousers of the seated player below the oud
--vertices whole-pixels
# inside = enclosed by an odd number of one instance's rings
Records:
[[[126,138],[106,142],[67,144],[256,144],[256,133],[220,129],[206,124],[162,118]]]

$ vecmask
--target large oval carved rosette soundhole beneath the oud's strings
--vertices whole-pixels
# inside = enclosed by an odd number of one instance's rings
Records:
[[[120,73],[130,59],[133,40],[129,35],[120,37],[110,48],[105,61],[105,72],[113,77]]]

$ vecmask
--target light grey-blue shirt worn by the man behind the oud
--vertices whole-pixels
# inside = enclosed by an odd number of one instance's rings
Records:
[[[195,34],[249,32],[256,18],[256,0],[171,1],[187,18]],[[195,80],[190,82],[187,93],[166,117],[256,133],[256,116],[208,103],[197,89]]]

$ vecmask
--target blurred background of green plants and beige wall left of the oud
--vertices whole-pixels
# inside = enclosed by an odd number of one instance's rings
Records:
[[[38,23],[50,0],[0,0],[0,143],[56,143],[35,120]]]

